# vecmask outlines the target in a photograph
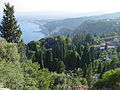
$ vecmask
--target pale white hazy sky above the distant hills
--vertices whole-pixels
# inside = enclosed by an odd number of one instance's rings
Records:
[[[0,12],[4,2],[14,5],[16,12],[120,12],[120,0],[0,0]]]

